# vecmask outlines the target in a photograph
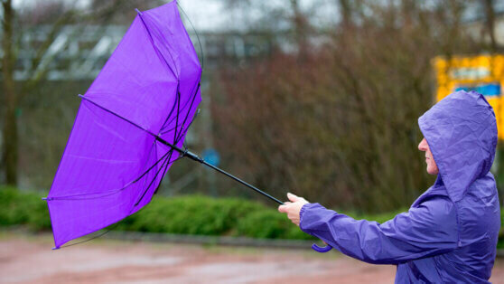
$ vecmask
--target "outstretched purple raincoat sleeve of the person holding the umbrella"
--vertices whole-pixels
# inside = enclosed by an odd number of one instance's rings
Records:
[[[305,204],[300,215],[303,232],[369,263],[398,264],[457,248],[455,205],[447,198],[426,201],[382,224],[355,220],[321,204]]]

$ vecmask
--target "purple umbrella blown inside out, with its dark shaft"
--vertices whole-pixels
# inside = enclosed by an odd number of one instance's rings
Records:
[[[278,204],[275,197],[182,149],[201,102],[201,65],[175,1],[137,11],[81,103],[49,206],[55,248],[140,210],[173,162],[189,157]]]

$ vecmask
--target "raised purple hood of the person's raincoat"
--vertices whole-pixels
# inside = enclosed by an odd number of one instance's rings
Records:
[[[418,119],[453,202],[487,175],[497,146],[495,114],[481,94],[463,90],[442,99]]]

